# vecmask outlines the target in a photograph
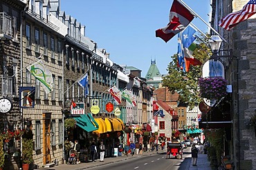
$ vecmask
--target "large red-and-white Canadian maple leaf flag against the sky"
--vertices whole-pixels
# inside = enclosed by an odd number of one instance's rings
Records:
[[[165,28],[156,30],[156,37],[160,37],[167,43],[173,36],[184,30],[194,19],[194,15],[179,1],[174,0],[170,10],[169,21]]]

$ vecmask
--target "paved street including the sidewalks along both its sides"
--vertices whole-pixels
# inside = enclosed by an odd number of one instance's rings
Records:
[[[175,159],[171,156],[166,159],[166,151],[149,151],[143,155],[135,156],[118,156],[113,158],[105,158],[104,162],[96,160],[96,162],[81,162],[81,164],[60,164],[48,169],[52,170],[82,170],[82,169],[120,169],[129,165],[129,169],[186,169],[186,170],[210,170],[210,163],[207,160],[207,155],[199,154],[197,166],[192,166],[190,147],[183,150],[183,159]],[[137,162],[138,161],[138,162]],[[157,162],[157,163],[156,163]]]

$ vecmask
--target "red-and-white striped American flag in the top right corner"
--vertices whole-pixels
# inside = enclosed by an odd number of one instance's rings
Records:
[[[253,14],[256,13],[255,9],[256,0],[250,0],[242,10],[237,12],[232,12],[228,14],[226,17],[223,17],[221,21],[219,21],[219,26],[226,30],[230,30],[235,27],[238,23],[242,21],[246,21],[246,19],[250,18]]]

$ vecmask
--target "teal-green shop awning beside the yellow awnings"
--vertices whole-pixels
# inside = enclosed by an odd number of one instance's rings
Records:
[[[76,121],[76,125],[78,125],[79,127],[81,127],[82,129],[84,129],[85,131],[91,132],[91,131],[95,131],[98,129],[98,124],[95,127],[95,125],[93,125],[93,123],[91,123],[91,120],[88,120],[88,118],[86,118],[87,116],[82,114],[78,117],[74,117],[75,121]],[[94,119],[93,119],[94,120]],[[94,120],[95,121],[95,120]]]

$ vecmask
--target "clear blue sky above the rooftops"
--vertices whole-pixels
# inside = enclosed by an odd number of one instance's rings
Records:
[[[86,36],[98,43],[119,65],[134,66],[145,77],[151,64],[161,74],[177,52],[177,35],[165,43],[155,31],[169,22],[172,0],[61,0],[60,10],[86,26]],[[183,0],[208,23],[210,0]],[[208,26],[199,18],[192,23],[202,32]]]

